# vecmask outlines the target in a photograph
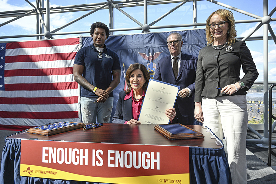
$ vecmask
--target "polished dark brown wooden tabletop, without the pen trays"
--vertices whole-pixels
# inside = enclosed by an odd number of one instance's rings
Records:
[[[117,143],[117,144],[153,144],[191,146],[201,148],[222,148],[217,145],[216,139],[211,139],[210,132],[199,125],[187,125],[194,130],[201,132],[205,138],[169,140],[156,131],[154,125],[132,125],[106,123],[103,126],[83,131],[82,128],[63,132],[52,136],[42,136],[27,132],[20,132],[7,139],[38,139],[38,140],[63,140],[72,142],[93,142],[93,143]]]

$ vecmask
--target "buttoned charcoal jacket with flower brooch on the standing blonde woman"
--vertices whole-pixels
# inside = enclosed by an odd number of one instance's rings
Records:
[[[245,84],[243,89],[232,95],[247,94],[258,77],[256,65],[245,41],[236,41],[231,45],[232,50],[226,48],[215,50],[212,45],[199,51],[195,82],[195,102],[201,102],[202,97],[217,97],[228,95],[221,93],[216,87],[223,88],[229,84],[241,81]],[[240,67],[244,76],[240,79]]]

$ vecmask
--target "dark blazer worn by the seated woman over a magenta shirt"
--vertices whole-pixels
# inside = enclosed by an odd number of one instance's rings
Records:
[[[119,99],[117,102],[117,107],[112,118],[112,123],[125,123],[133,119],[132,116],[132,98],[125,99],[125,91],[119,93]],[[144,96],[143,96],[144,101]],[[143,103],[142,101],[142,103]]]

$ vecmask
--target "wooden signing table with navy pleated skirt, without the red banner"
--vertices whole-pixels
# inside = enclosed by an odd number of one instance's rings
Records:
[[[42,179],[20,176],[21,139],[52,140],[80,143],[113,143],[138,145],[188,146],[190,160],[190,183],[231,184],[228,161],[222,145],[216,144],[210,132],[199,125],[188,127],[201,132],[205,137],[197,139],[169,140],[154,129],[154,125],[104,124],[103,126],[83,131],[82,128],[42,136],[27,131],[17,132],[5,138],[6,146],[2,153],[0,183],[63,183],[64,180]],[[173,154],[173,153],[172,153]],[[169,162],[168,158],[168,162]],[[11,177],[13,172],[13,177]],[[12,178],[12,179],[11,179]],[[30,179],[31,178],[31,179]],[[82,184],[85,182],[67,181]]]

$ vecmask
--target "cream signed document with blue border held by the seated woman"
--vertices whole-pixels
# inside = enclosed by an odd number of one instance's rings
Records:
[[[165,111],[174,107],[180,87],[150,79],[138,121],[141,124],[168,124]]]

